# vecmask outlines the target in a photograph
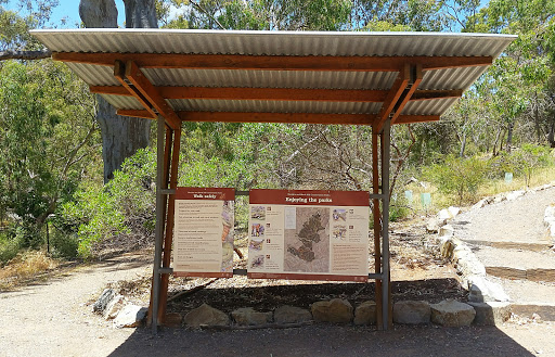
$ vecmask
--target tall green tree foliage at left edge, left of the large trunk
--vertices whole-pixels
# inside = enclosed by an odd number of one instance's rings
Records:
[[[23,246],[37,247],[46,219],[70,199],[98,154],[95,102],[64,65],[5,62],[0,67],[0,208],[15,217]]]

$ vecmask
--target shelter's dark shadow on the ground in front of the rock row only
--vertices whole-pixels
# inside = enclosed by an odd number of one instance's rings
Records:
[[[533,356],[494,327],[313,324],[292,329],[198,331],[141,328],[109,356]]]

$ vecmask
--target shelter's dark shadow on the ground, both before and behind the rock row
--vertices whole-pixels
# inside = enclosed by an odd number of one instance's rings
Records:
[[[273,310],[281,305],[307,307],[323,298],[347,298],[352,305],[374,298],[374,283],[317,283],[258,288],[204,289],[173,301],[168,311],[186,314],[202,303],[227,313],[250,306]],[[465,299],[454,279],[392,282],[393,301]],[[111,356],[533,356],[495,327],[375,327],[315,323],[259,330],[139,328]]]

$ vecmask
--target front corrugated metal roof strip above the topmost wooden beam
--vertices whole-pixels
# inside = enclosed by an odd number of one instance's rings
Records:
[[[190,29],[39,29],[55,52],[218,53],[249,55],[498,56],[509,35]]]

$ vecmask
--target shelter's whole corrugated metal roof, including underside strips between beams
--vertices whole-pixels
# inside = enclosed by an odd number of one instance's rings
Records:
[[[446,33],[221,31],[173,29],[33,30],[54,52],[183,53],[314,56],[493,56],[516,36]],[[113,68],[68,63],[91,86],[120,86]],[[426,71],[418,89],[467,89],[485,66]],[[143,68],[155,86],[382,89],[396,72]],[[103,94],[117,109],[142,109],[129,97]],[[410,102],[402,114],[441,115],[456,99]],[[380,103],[168,100],[176,111],[375,114]]]

